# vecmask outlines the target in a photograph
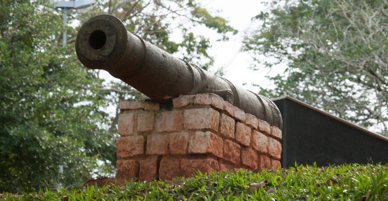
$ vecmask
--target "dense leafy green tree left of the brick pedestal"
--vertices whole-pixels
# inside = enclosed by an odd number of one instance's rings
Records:
[[[110,143],[100,127],[109,119],[98,109],[106,101],[80,90],[102,80],[55,47],[62,19],[42,6],[49,3],[0,6],[0,191],[32,191],[45,181],[80,186]]]

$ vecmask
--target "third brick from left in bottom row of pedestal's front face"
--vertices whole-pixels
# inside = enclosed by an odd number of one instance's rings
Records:
[[[172,180],[180,176],[180,160],[175,158],[162,158],[159,167],[159,177],[161,180]]]

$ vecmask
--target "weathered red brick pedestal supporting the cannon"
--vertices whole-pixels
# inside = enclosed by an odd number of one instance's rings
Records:
[[[119,178],[140,181],[211,172],[277,168],[281,130],[215,94],[180,96],[172,103],[121,100]]]

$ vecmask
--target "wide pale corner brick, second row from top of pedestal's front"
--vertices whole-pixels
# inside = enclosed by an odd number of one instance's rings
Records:
[[[211,129],[218,131],[220,113],[213,108],[194,108],[185,110],[183,126],[185,129]]]

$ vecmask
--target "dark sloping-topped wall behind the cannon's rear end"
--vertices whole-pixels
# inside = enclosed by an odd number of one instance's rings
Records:
[[[276,100],[283,118],[282,167],[388,163],[388,142],[287,100]]]

